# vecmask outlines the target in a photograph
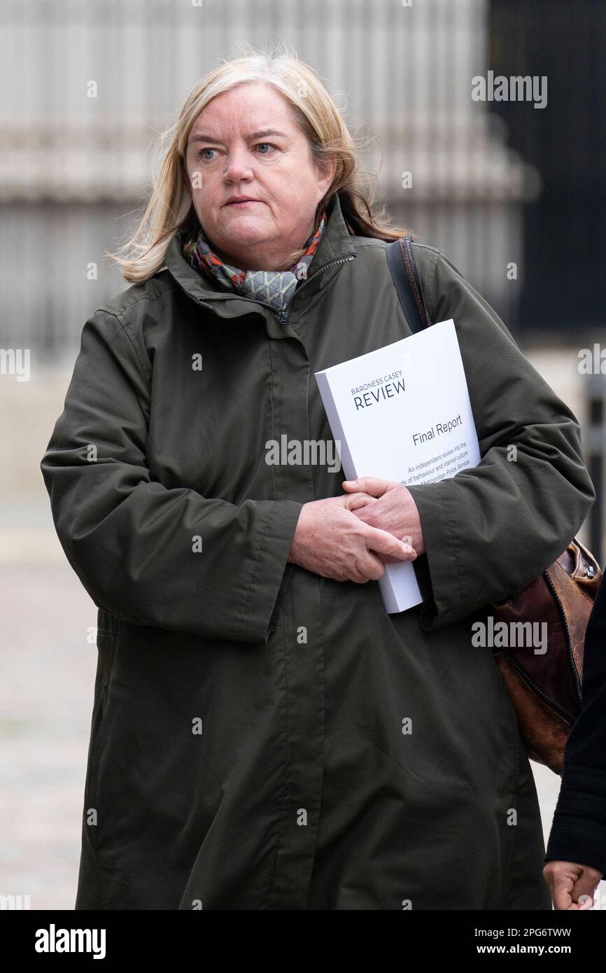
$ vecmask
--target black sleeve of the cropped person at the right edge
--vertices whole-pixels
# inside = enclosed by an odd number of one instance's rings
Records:
[[[606,875],[606,582],[595,596],[583,661],[583,707],[564,749],[562,782],[545,861]]]

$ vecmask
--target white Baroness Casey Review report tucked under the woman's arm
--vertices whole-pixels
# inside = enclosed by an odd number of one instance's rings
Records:
[[[480,448],[454,322],[316,372],[345,480],[437,483],[476,466]],[[386,564],[388,614],[422,601],[411,561]]]

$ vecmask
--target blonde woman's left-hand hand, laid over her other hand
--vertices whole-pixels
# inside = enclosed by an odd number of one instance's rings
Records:
[[[386,530],[364,523],[354,511],[375,503],[366,493],[345,493],[304,503],[288,560],[335,581],[377,581],[390,563],[416,555]]]

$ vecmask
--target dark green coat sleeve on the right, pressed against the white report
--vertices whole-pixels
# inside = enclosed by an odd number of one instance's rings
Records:
[[[420,625],[433,631],[529,585],[582,526],[595,491],[575,415],[444,254],[415,252],[432,320],[454,321],[481,453],[474,468],[409,487],[426,548],[414,561]]]

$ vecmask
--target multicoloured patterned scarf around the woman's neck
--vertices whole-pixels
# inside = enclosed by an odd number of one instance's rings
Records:
[[[291,270],[238,270],[224,263],[208,245],[200,229],[190,258],[192,267],[217,281],[224,290],[237,291],[254,301],[264,301],[280,311],[293,297],[297,284],[307,276],[318,243],[326,227],[326,210],[322,211],[318,229],[303,243],[305,252]]]

